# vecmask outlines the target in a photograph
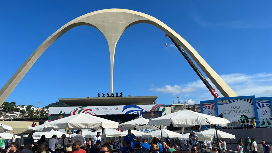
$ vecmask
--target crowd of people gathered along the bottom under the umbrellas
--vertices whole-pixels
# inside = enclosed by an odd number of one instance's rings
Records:
[[[209,152],[218,153],[218,149],[223,153],[227,152],[227,145],[224,139],[219,139],[219,142],[214,139],[199,141],[193,130],[190,130],[190,140],[180,140],[180,144],[172,143],[169,137],[166,138],[166,142],[153,137],[152,142],[148,143],[146,139],[139,140],[131,133],[131,130],[127,132],[123,141],[124,145],[118,139],[114,142],[108,140],[102,143],[100,132],[97,132],[96,136],[89,138],[89,141],[86,142],[80,130],[76,131],[77,135],[72,140],[68,140],[66,134],[63,134],[59,140],[57,140],[56,135],[53,135],[48,142],[44,135],[41,136],[40,140],[34,142],[33,133],[29,132],[28,136],[24,138],[24,145],[20,147],[17,142],[10,142],[10,140],[5,140],[0,136],[0,153],[111,153],[114,150],[119,153],[159,153],[166,151],[170,153],[174,151],[197,153],[201,152],[203,148]],[[261,144],[263,145],[263,153],[270,153],[270,146],[266,145],[264,141]],[[257,153],[258,147],[255,139],[247,137],[245,143],[243,139],[239,139],[237,151]]]

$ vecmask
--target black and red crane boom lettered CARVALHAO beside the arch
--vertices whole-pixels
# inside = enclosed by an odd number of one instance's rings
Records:
[[[213,95],[214,98],[219,98],[220,96],[217,94],[215,89],[210,85],[210,83],[206,80],[206,78],[202,75],[200,70],[195,66],[193,61],[189,58],[189,56],[186,54],[186,52],[182,49],[182,47],[177,43],[174,39],[172,39],[168,34],[165,34],[165,36],[169,37],[171,41],[175,44],[175,46],[178,48],[180,53],[183,55],[183,57],[187,60],[189,65],[194,69],[195,73],[198,75],[198,77],[202,80],[202,82],[206,85],[206,87],[209,89],[211,94]]]

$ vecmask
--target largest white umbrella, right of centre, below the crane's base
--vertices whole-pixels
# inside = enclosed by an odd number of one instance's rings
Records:
[[[175,113],[167,114],[165,116],[149,120],[148,125],[170,126],[171,123],[173,124],[174,127],[188,127],[195,125],[210,125],[210,124],[226,126],[228,125],[228,123],[230,123],[230,121],[225,118],[201,114],[193,112],[191,110],[180,110]]]

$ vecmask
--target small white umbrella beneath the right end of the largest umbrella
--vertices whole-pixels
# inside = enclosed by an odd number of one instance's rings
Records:
[[[214,138],[216,136],[214,129],[208,129],[208,130],[196,132],[195,134],[198,136],[198,138],[199,138],[199,136],[203,136],[203,137],[207,137],[207,138]],[[223,132],[220,130],[217,130],[217,135],[218,135],[218,138],[235,139],[235,135],[227,133],[227,132]]]

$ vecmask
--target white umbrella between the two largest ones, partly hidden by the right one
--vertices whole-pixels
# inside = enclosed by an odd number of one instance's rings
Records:
[[[153,125],[147,125],[148,122],[149,122],[149,119],[137,118],[137,119],[134,119],[134,120],[127,121],[127,122],[119,124],[119,129],[121,129],[121,130],[158,129],[158,128],[154,127]]]

